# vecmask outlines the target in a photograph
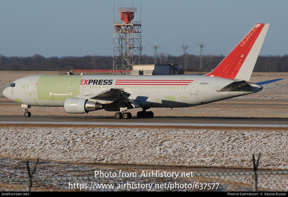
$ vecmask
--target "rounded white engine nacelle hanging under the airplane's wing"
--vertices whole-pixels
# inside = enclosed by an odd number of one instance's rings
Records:
[[[64,101],[64,110],[69,114],[84,114],[90,111],[102,110],[103,108],[103,104],[84,98],[67,98]]]

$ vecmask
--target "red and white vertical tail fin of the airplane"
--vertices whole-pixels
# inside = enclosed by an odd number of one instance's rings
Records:
[[[270,24],[256,24],[224,60],[206,76],[249,81]]]

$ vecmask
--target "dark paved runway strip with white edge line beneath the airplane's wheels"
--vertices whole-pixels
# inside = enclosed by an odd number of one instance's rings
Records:
[[[0,124],[146,125],[288,127],[288,118],[154,117],[115,119],[113,116],[0,116]]]

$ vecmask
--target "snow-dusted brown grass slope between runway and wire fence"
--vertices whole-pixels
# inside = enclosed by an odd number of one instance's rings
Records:
[[[65,162],[287,169],[287,130],[14,128],[0,129],[0,153]],[[221,177],[251,184],[251,176]],[[287,191],[286,175],[259,176],[259,187]]]

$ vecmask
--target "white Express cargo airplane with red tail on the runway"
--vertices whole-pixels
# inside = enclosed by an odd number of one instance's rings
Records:
[[[116,119],[130,119],[132,108],[142,108],[137,117],[152,118],[149,108],[191,107],[255,93],[281,80],[249,82],[269,25],[256,24],[205,75],[34,75],[17,79],[3,95],[22,104],[26,117],[31,106],[49,106],[72,114],[104,109],[116,112]]]

